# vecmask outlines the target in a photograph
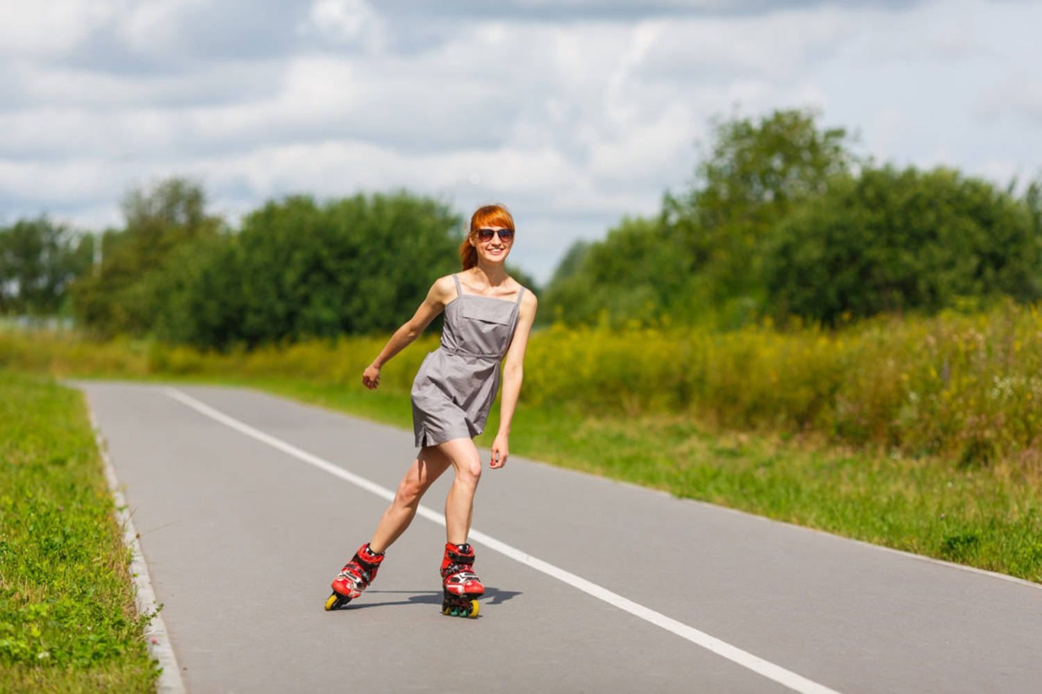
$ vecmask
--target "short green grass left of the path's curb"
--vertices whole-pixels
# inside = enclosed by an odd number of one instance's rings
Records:
[[[82,395],[0,370],[0,691],[154,690],[113,510]]]

